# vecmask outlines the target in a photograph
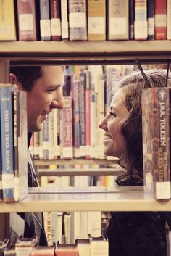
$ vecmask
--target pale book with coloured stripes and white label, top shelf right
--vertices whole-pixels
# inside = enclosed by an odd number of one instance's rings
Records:
[[[148,36],[147,24],[147,1],[135,0],[135,23],[134,37],[135,40],[146,40]]]

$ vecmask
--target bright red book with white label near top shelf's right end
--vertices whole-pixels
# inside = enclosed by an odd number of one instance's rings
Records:
[[[154,35],[155,40],[166,40],[167,38],[167,0],[155,0],[154,7]]]

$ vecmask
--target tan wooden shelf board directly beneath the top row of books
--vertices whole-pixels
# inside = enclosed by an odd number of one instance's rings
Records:
[[[171,58],[171,41],[1,41],[0,58],[12,64],[131,64],[135,58],[164,62]]]

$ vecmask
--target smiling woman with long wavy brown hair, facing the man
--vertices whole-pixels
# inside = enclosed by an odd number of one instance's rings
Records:
[[[119,158],[124,175],[119,186],[143,186],[141,94],[143,88],[166,86],[163,70],[135,72],[114,88],[109,114],[101,120],[104,154]],[[171,76],[168,75],[168,80]],[[109,256],[166,256],[165,220],[161,212],[111,212],[107,230]]]

